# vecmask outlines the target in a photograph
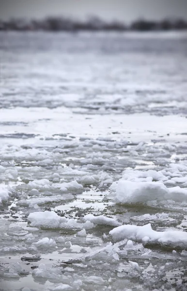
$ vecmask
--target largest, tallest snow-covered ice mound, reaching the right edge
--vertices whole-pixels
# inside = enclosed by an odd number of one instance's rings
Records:
[[[160,182],[132,182],[119,180],[112,183],[110,190],[114,192],[116,203],[145,203],[152,200],[187,200],[187,189],[179,186],[167,188]]]

